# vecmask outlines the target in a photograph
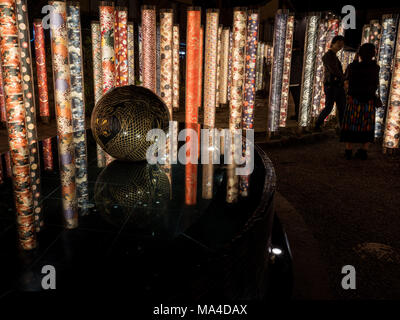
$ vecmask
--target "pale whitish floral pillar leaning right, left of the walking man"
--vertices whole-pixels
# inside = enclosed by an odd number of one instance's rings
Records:
[[[319,20],[320,18],[317,15],[307,17],[298,121],[299,126],[301,127],[307,127],[311,122],[311,103],[313,95],[313,79],[315,71],[315,56],[317,52]]]

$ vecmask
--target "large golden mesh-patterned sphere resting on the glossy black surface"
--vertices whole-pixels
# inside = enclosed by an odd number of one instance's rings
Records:
[[[93,109],[91,127],[96,142],[120,160],[146,159],[153,143],[151,129],[167,131],[168,109],[151,90],[138,86],[117,87],[105,94]]]

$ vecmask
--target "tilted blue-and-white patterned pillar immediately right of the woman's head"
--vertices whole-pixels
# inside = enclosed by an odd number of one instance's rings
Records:
[[[389,96],[389,85],[392,69],[392,60],[395,51],[397,29],[397,15],[384,15],[382,17],[382,38],[379,48],[379,96],[382,108],[375,109],[375,138],[382,138],[384,119]]]

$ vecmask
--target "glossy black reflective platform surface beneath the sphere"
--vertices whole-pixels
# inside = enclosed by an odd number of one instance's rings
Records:
[[[275,176],[262,151],[256,152],[248,197],[226,202],[222,164],[214,166],[212,199],[203,199],[198,165],[196,204],[187,205],[184,165],[172,165],[172,184],[147,164],[114,161],[99,168],[90,132],[87,141],[89,208],[79,210],[77,228],[65,228],[53,139],[54,170],[42,169],[44,228],[32,251],[18,247],[12,181],[2,156],[0,297],[49,294],[41,286],[45,265],[56,269],[57,294],[128,291],[152,301],[266,296]],[[148,176],[157,177],[156,185],[143,178]],[[121,198],[138,192],[150,194]]]

